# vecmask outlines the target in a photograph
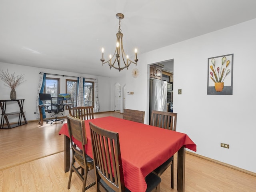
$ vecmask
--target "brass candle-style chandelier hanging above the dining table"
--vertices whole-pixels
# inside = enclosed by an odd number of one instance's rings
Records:
[[[121,26],[121,19],[124,18],[124,15],[122,13],[118,13],[116,14],[116,18],[119,19],[119,28],[118,28],[118,33],[116,34],[116,50],[114,52],[114,55],[116,57],[112,57],[111,55],[109,55],[109,60],[107,60],[105,62],[104,59],[104,48],[102,48],[102,55],[101,55],[101,62],[102,65],[105,63],[108,63],[108,65],[110,66],[110,69],[113,67],[117,70],[123,70],[124,68],[127,68],[130,66],[131,63],[134,63],[135,65],[137,65],[138,59],[137,59],[137,49],[134,50],[135,52],[135,59],[134,62],[132,60],[129,59],[129,56],[126,55],[124,53],[124,48],[123,48],[123,34],[121,33],[122,30],[120,28]],[[123,61],[123,65],[121,67],[121,61]],[[116,64],[116,66],[115,66]]]

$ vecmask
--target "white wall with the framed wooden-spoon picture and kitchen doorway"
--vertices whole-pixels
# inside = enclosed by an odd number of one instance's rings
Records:
[[[177,131],[190,136],[196,153],[256,172],[255,34],[256,19],[138,55],[140,76],[126,74],[127,91],[134,91],[126,107],[146,111],[148,122],[148,64],[174,59]],[[207,95],[208,58],[226,54],[234,54],[233,95]]]

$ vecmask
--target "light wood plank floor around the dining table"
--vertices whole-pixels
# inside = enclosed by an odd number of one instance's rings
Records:
[[[117,116],[117,112],[94,117]],[[58,135],[62,124],[29,122],[27,125],[0,130],[0,192],[80,192],[82,182],[73,174],[70,190],[69,173],[64,172],[64,136]],[[176,156],[175,156],[176,157]],[[176,159],[175,159],[176,160]],[[177,161],[175,161],[177,162]],[[175,174],[176,174],[175,163]],[[170,189],[170,169],[161,176],[161,192]],[[88,183],[94,181],[94,171]],[[95,187],[87,192],[94,192]],[[186,154],[186,192],[256,192],[256,177]]]

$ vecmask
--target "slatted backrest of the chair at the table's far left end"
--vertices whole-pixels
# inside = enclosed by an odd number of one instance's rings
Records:
[[[93,119],[93,106],[73,107],[72,116],[78,119]]]

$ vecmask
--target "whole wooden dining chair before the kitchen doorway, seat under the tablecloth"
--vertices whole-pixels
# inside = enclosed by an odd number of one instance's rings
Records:
[[[162,112],[152,110],[150,125],[176,131],[177,124],[177,113],[171,112]],[[166,162],[156,168],[153,173],[160,176],[164,173],[164,171],[171,166],[171,187],[174,188],[174,156],[169,158]],[[157,191],[159,192],[160,185],[157,187]]]

